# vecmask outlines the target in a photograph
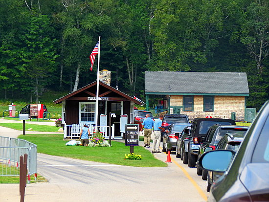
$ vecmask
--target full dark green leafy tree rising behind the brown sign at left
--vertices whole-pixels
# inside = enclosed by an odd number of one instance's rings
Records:
[[[38,95],[42,94],[51,73],[56,69],[55,59],[59,56],[55,48],[57,40],[50,36],[53,28],[49,26],[49,18],[46,15],[32,17],[25,30],[21,37],[25,45],[20,51],[22,67],[25,67],[25,77],[34,79],[32,91],[38,102]]]

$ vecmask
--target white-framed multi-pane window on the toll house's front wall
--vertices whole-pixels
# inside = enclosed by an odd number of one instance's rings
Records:
[[[95,102],[79,103],[79,122],[95,123]]]

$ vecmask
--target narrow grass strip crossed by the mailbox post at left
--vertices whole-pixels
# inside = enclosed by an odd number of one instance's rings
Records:
[[[0,126],[22,131],[22,123],[0,123]],[[25,123],[25,130],[27,131],[28,128],[31,128],[32,131],[40,131],[40,132],[57,132],[59,130],[59,128],[55,126],[45,126],[45,125],[35,125]]]

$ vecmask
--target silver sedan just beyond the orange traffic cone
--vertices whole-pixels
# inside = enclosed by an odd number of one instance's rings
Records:
[[[176,151],[177,139],[187,126],[191,126],[190,123],[173,123],[171,124],[166,133],[163,135],[162,151],[168,154],[168,151]],[[176,134],[177,133],[177,134]]]

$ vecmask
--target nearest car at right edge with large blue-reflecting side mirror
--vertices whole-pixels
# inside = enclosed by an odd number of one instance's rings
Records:
[[[236,154],[215,150],[202,155],[198,163],[203,169],[224,173],[212,184],[208,202],[269,201],[268,134],[269,100],[252,122]]]

